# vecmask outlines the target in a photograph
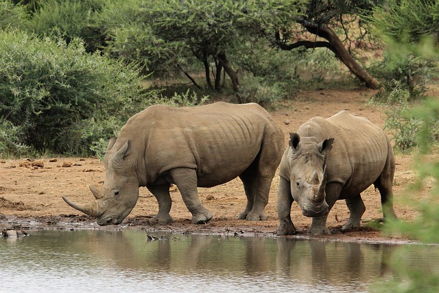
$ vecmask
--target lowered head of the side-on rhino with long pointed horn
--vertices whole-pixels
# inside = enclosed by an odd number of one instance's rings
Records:
[[[77,204],[62,196],[71,207],[97,218],[97,224],[120,224],[132,211],[139,198],[139,180],[130,160],[130,140],[119,150],[113,150],[116,138],[110,139],[105,156],[104,187],[90,186],[95,197],[89,204]]]

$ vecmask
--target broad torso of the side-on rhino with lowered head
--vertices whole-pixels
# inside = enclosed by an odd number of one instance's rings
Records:
[[[283,140],[281,129],[257,104],[223,102],[193,108],[151,106],[134,115],[120,137],[132,139],[148,182],[176,167],[197,169],[198,185],[232,180],[254,161],[263,140]]]

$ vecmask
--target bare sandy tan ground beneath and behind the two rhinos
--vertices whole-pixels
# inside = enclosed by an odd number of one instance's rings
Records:
[[[327,118],[340,110],[349,110],[355,115],[367,117],[383,127],[384,109],[368,104],[368,97],[373,93],[375,92],[366,89],[302,91],[294,101],[276,104],[272,116],[285,132],[285,143],[289,132],[296,131],[298,126],[309,118],[314,116]],[[405,188],[414,182],[415,171],[412,160],[412,155],[396,154],[395,211],[403,220],[411,220],[416,216],[414,204],[407,205],[401,200]],[[254,235],[274,235],[276,231],[278,176],[274,178],[270,201],[265,209],[268,215],[267,221],[237,220],[237,215],[244,210],[246,196],[241,181],[235,179],[217,187],[199,189],[203,204],[214,215],[207,224],[191,224],[191,214],[183,204],[178,190],[174,188],[171,191],[173,200],[171,217],[174,218],[174,223],[148,225],[147,219],[158,211],[158,205],[150,192],[142,187],[136,207],[121,225],[99,227],[93,219],[69,207],[61,196],[67,196],[74,202],[86,203],[93,198],[88,185],[102,186],[104,178],[104,165],[99,159],[94,158],[32,158],[1,161],[0,225],[22,228],[145,228],[150,231],[164,230],[176,233],[252,233]],[[327,226],[332,234],[321,237],[368,242],[403,240],[382,235],[367,225],[370,220],[382,216],[379,192],[369,187],[362,194],[362,198],[366,205],[362,228],[348,233],[340,231],[349,216],[344,200],[340,200],[329,213]],[[420,200],[420,197],[417,196],[414,200]],[[305,237],[311,219],[302,215],[296,203],[292,207],[292,220],[298,229],[296,237]]]

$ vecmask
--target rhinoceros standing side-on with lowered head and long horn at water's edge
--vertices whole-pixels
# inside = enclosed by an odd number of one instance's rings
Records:
[[[131,117],[117,139],[110,139],[104,187],[90,187],[95,200],[80,205],[62,198],[97,218],[99,225],[120,224],[137,203],[139,187],[146,186],[158,201],[158,214],[150,222],[169,223],[169,187],[175,184],[192,223],[201,224],[212,214],[201,204],[197,187],[239,176],[248,200],[239,219],[265,220],[284,139],[276,121],[258,104],[150,106]]]

